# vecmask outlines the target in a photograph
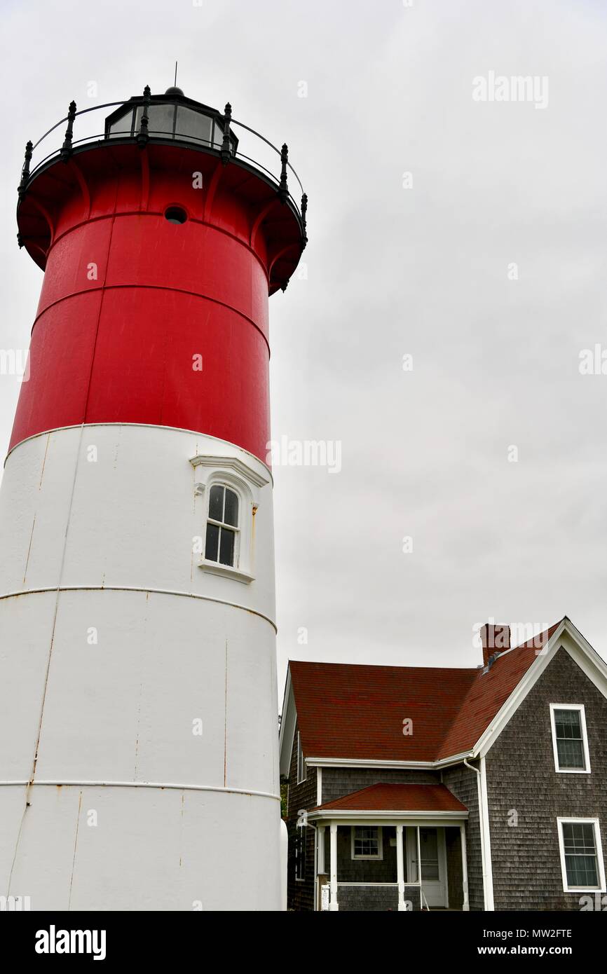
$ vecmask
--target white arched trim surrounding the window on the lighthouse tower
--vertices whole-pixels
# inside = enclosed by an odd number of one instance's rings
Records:
[[[259,490],[270,482],[253,468],[248,467],[237,457],[196,456],[190,459],[194,468],[194,493],[204,499],[201,531],[203,554],[199,567],[210,575],[222,576],[232,581],[249,584],[254,581],[253,574],[253,518],[259,507]],[[234,491],[239,499],[239,523],[235,547],[234,565],[222,565],[205,557],[204,545],[209,520],[210,488],[222,484]]]

